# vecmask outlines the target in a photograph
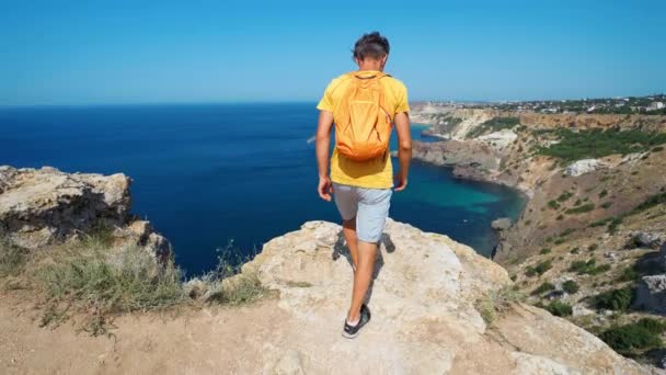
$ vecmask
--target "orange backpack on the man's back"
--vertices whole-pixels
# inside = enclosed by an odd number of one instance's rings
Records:
[[[353,71],[347,76],[349,88],[333,110],[335,147],[355,161],[377,158],[389,148],[393,123],[379,83],[388,75],[377,72],[363,77]]]

